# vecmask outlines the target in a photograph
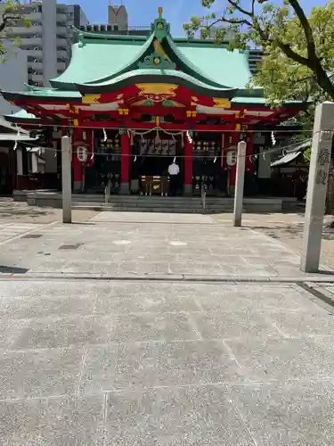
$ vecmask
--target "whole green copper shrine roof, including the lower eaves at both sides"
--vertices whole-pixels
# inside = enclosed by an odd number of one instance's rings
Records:
[[[77,31],[69,67],[50,80],[51,88],[27,87],[20,93],[4,92],[4,97],[80,103],[86,93],[114,92],[137,83],[169,83],[199,95],[233,98],[236,104],[265,104],[262,89],[247,90],[251,77],[247,52],[229,52],[210,41],[173,39],[161,9],[151,30],[149,38]]]

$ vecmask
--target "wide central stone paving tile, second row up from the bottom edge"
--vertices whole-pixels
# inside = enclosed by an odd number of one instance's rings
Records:
[[[133,343],[89,348],[80,391],[242,381],[222,343]]]

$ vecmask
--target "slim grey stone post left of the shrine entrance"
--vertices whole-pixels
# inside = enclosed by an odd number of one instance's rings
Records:
[[[62,181],[62,222],[72,222],[71,185],[71,141],[69,136],[61,138],[61,181]]]

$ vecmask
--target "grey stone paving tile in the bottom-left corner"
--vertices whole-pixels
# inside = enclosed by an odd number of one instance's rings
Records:
[[[46,401],[0,401],[2,446],[46,446]]]

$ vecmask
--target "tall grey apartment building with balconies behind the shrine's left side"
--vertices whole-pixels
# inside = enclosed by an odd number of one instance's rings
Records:
[[[24,16],[31,26],[17,24],[7,29],[7,37],[20,38],[20,48],[27,54],[28,82],[43,87],[50,78],[60,75],[69,65],[75,26],[88,23],[78,4],[57,4],[57,0],[43,0],[22,4]],[[0,4],[0,13],[5,4]]]

